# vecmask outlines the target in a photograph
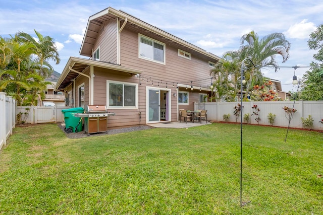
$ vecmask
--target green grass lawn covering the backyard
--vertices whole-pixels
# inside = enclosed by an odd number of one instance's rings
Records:
[[[243,125],[68,139],[17,127],[0,152],[2,214],[321,214],[323,133]]]

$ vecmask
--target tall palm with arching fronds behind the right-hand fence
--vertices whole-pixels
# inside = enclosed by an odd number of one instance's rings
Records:
[[[289,58],[291,43],[285,39],[282,33],[268,34],[259,40],[258,35],[251,31],[241,37],[240,45],[239,50],[226,52],[224,56],[234,62],[239,62],[239,67],[241,67],[241,63],[245,58],[251,59],[257,66],[254,67],[249,61],[244,63],[246,68],[244,70],[247,82],[246,91],[249,92],[255,84],[263,84],[264,78],[261,74],[261,67],[274,66],[276,69],[279,68],[275,60],[277,54],[283,57],[283,62],[286,62]]]

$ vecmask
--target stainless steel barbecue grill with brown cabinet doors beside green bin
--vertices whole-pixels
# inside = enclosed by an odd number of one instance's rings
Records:
[[[106,132],[107,117],[115,115],[107,112],[105,105],[87,105],[85,113],[75,113],[76,117],[84,118],[84,131],[88,134]]]

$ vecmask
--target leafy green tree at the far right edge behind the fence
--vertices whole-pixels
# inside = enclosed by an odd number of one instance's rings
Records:
[[[323,24],[312,32],[307,45],[312,50],[318,52],[313,58],[318,62],[310,63],[312,68],[303,75],[301,98],[304,100],[323,100]]]

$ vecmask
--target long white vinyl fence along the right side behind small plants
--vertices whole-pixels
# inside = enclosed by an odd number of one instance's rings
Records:
[[[229,122],[240,122],[241,116],[238,117],[236,121],[236,116],[234,115],[234,107],[240,104],[240,102],[209,102],[203,103],[203,109],[207,110],[207,120],[212,121],[225,121],[223,119],[224,114],[230,114]],[[244,114],[250,114],[251,124],[258,124],[255,121],[255,117],[252,111],[252,106],[257,105],[260,109],[259,117],[261,125],[270,125],[267,115],[268,113],[276,114],[274,126],[288,127],[288,119],[285,117],[284,106],[292,108],[294,101],[276,101],[276,102],[243,102],[242,117]],[[195,103],[194,109],[200,109],[201,103]],[[290,122],[290,127],[302,128],[303,124],[301,117],[307,118],[311,115],[313,118],[313,129],[323,130],[323,124],[319,123],[323,119],[323,101],[295,101],[294,109],[297,111]],[[240,113],[241,114],[241,113]]]

